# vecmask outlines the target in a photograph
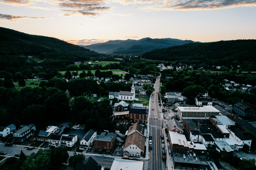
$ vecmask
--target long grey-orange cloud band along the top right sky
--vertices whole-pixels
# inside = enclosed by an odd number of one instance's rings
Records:
[[[140,7],[140,10],[214,10],[237,6],[256,6],[256,0],[166,0],[154,5]]]

